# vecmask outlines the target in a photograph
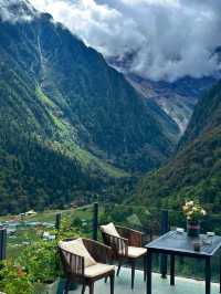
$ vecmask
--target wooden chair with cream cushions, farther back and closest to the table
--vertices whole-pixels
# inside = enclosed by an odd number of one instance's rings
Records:
[[[117,233],[108,233],[101,225],[104,243],[113,249],[113,255],[118,261],[117,276],[122,263],[127,261],[131,265],[131,288],[134,288],[136,261],[144,258],[144,281],[146,281],[147,250],[143,248],[143,233],[125,227],[116,225]]]

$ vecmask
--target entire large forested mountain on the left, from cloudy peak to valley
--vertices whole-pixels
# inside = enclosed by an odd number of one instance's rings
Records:
[[[144,103],[123,74],[51,15],[25,1],[2,3],[1,211],[102,192],[127,171],[168,158],[176,128],[168,123],[171,133],[165,130],[156,104]]]

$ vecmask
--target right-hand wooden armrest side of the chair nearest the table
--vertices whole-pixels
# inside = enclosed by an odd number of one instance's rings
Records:
[[[120,225],[116,225],[116,229],[120,235],[128,239],[129,246],[138,246],[138,248],[143,246],[143,237],[144,237],[143,232]]]

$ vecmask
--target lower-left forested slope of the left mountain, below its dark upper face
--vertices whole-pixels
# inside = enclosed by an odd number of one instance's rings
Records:
[[[99,192],[123,177],[96,158],[91,165],[73,156],[60,137],[63,125],[42,108],[31,80],[0,66],[0,211],[19,212],[29,208],[64,206],[72,199]],[[24,83],[25,82],[25,83]],[[72,147],[73,148],[73,147]],[[70,148],[71,149],[71,148]],[[81,153],[80,153],[81,151]],[[113,172],[114,171],[114,172]],[[126,175],[125,175],[126,176]],[[112,179],[113,178],[113,179]]]

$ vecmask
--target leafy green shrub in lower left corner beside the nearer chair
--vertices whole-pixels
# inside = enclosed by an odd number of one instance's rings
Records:
[[[65,216],[62,218],[60,230],[49,230],[55,234],[55,240],[34,240],[23,245],[21,253],[13,259],[6,260],[0,271],[0,292],[7,294],[35,294],[44,293],[46,285],[54,283],[62,276],[60,256],[57,252],[59,240],[75,238],[81,234],[80,228],[73,227]],[[40,292],[36,288],[41,288]]]

